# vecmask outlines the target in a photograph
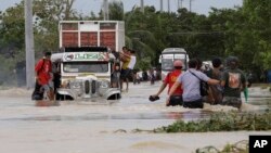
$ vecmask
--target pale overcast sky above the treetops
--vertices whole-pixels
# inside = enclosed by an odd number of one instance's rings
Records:
[[[21,2],[22,0],[0,0],[0,10],[4,11],[7,8]],[[111,1],[111,0],[108,0]],[[141,0],[122,0],[125,11],[130,11],[133,5],[140,7]],[[168,11],[168,0],[164,0],[164,11]],[[181,0],[180,0],[181,1]],[[190,0],[182,0],[183,8],[190,8]],[[98,13],[101,10],[103,0],[76,0],[74,9],[79,13],[88,14],[91,11]],[[241,7],[243,0],[192,0],[192,11],[208,15],[210,8],[234,8],[235,5]],[[154,5],[156,10],[160,9],[160,0],[144,0],[145,5]],[[177,11],[178,0],[170,0],[170,11]]]

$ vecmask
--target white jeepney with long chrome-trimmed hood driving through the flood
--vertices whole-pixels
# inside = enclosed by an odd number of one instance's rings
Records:
[[[61,74],[61,85],[56,88],[59,100],[121,98],[120,89],[111,87],[114,55],[107,48],[65,48],[64,52],[52,54],[51,60]]]

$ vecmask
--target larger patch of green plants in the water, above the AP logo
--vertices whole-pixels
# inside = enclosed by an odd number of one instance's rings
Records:
[[[214,113],[209,119],[196,122],[177,120],[172,125],[155,129],[159,132],[206,132],[236,130],[271,130],[271,112],[255,113]]]

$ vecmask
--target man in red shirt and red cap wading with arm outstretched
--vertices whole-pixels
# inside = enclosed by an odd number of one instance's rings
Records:
[[[173,86],[175,81],[177,80],[178,76],[182,73],[182,61],[176,60],[173,62],[175,69],[166,76],[164,79],[158,92],[156,94],[151,95],[152,98],[158,98],[158,95],[164,91],[164,89],[168,85],[168,92],[170,88]],[[169,105],[182,105],[182,87],[179,86],[175,91],[173,95],[170,97],[169,103],[166,103],[167,106]]]

